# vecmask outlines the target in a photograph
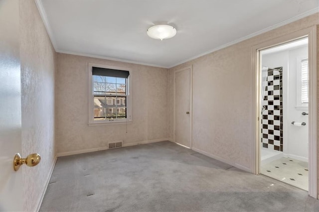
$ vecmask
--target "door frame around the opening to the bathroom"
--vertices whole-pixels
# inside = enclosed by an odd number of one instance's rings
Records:
[[[252,47],[253,70],[253,133],[252,133],[252,173],[260,174],[260,142],[259,142],[259,112],[260,112],[260,58],[261,50],[288,43],[302,37],[308,37],[309,61],[309,195],[319,199],[317,172],[317,26],[305,28],[281,37],[259,43]]]

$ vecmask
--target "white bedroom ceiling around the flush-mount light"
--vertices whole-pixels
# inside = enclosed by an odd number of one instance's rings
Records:
[[[57,52],[170,68],[319,11],[318,0],[36,0]],[[170,24],[175,37],[146,31]]]

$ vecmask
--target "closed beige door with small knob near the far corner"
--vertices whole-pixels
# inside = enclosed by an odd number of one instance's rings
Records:
[[[191,148],[191,67],[174,72],[174,141]]]

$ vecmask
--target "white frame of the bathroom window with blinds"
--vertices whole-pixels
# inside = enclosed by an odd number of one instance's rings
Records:
[[[302,61],[308,59],[308,57],[298,57],[296,61],[296,109],[297,110],[308,110],[308,103],[302,103]],[[308,69],[309,70],[309,69]],[[309,73],[308,73],[309,75]],[[309,81],[308,81],[309,83]],[[309,87],[308,87],[309,89]],[[308,91],[309,93],[309,91]]]

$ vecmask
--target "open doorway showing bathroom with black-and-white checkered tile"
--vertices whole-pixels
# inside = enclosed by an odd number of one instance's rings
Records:
[[[308,37],[259,58],[260,173],[308,191]]]

